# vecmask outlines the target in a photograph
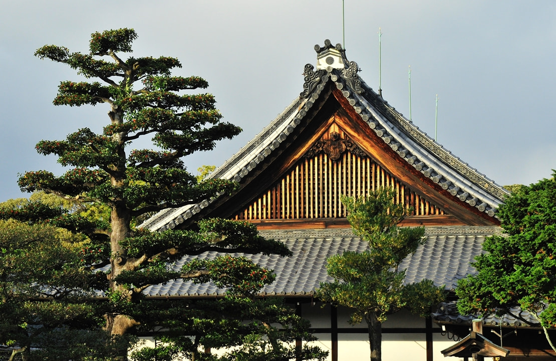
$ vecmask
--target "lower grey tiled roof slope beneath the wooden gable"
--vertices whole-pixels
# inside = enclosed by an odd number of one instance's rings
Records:
[[[481,253],[487,235],[498,233],[498,227],[443,227],[426,229],[426,242],[404,259],[400,269],[406,269],[406,282],[433,279],[438,286],[453,290],[460,278],[474,272],[470,262]],[[330,282],[326,274],[326,259],[345,250],[364,252],[367,243],[356,237],[351,229],[318,229],[292,231],[261,231],[265,237],[284,242],[291,257],[276,255],[247,255],[255,263],[274,269],[276,280],[262,289],[264,295],[311,295],[320,282]],[[207,252],[196,257],[210,258],[217,253]],[[190,258],[184,257],[173,265],[179,270]],[[147,288],[150,296],[216,296],[224,294],[212,283],[194,284],[173,280],[165,285]]]

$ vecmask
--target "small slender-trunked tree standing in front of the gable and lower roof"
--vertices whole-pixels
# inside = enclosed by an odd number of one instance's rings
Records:
[[[369,243],[363,253],[344,252],[328,259],[327,273],[335,279],[321,283],[323,302],[354,308],[350,323],[368,325],[370,359],[381,360],[382,323],[388,314],[408,309],[425,317],[430,306],[444,299],[444,290],[432,280],[404,283],[400,262],[423,244],[424,228],[397,226],[408,214],[394,203],[395,191],[381,188],[366,199],[342,196],[347,220],[355,234]]]

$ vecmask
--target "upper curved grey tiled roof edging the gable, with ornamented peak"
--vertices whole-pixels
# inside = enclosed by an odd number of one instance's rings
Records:
[[[304,122],[311,107],[324,97],[324,89],[332,86],[342,92],[353,111],[370,129],[388,144],[398,156],[425,177],[441,185],[452,197],[466,202],[480,212],[495,217],[507,190],[455,157],[441,144],[436,143],[409,119],[391,107],[383,97],[359,78],[358,65],[345,57],[340,44],[315,46],[317,69],[307,64],[305,83],[300,97],[296,98],[269,126],[232,156],[211,177],[241,179],[256,171],[259,164],[269,157],[289,137],[295,137],[296,127]],[[162,210],[141,225],[151,230],[174,228],[185,219],[208,207],[213,200],[204,200],[176,209]]]

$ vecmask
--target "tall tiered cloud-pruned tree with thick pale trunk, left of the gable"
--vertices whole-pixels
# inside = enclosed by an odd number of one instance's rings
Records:
[[[272,350],[279,352],[279,343],[287,342],[292,335],[302,337],[306,325],[288,318],[289,309],[257,302],[253,297],[274,280],[270,270],[245,257],[230,255],[193,258],[180,272],[170,265],[185,255],[207,251],[289,255],[284,244],[262,238],[252,224],[225,219],[203,219],[187,229],[155,233],[133,227],[133,219],[142,215],[232,192],[236,185],[231,181],[197,179],[187,172],[182,158],[196,151],[208,151],[216,141],[232,138],[241,130],[221,120],[211,94],[191,93],[208,86],[204,79],[171,75],[173,69],[181,67],[177,59],[123,59],[121,54],[132,51],[136,38],[133,29],[117,29],[93,33],[90,52],[86,54],[53,45],[36,51],[41,59],[66,64],[86,79],[94,79],[61,82],[54,105],[106,104],[110,111],[100,134],[81,128],[64,140],[37,143],[38,153],[57,156],[58,162],[68,167],[66,173],[54,176],[48,171],[26,172],[18,181],[26,192],[43,190],[85,204],[80,212],[31,202],[1,210],[0,218],[48,223],[87,237],[88,248],[83,250],[81,263],[64,262],[64,267],[74,267],[92,278],[100,276],[105,280],[95,284],[95,288],[106,294],[107,301],[99,309],[111,339],[119,340],[141,330],[160,327],[168,330],[161,339],[167,342],[170,351],[159,348],[161,353],[154,350],[149,354],[145,350],[145,354],[137,354],[137,359],[151,360],[155,354],[164,359],[168,352],[178,352],[189,359],[211,359],[199,352],[203,345],[225,347],[232,341],[232,345],[240,345],[246,337],[263,330],[268,337],[261,339],[272,342],[276,346]],[[133,141],[146,136],[152,137],[158,150],[129,151]],[[109,217],[102,215],[105,209],[110,212]],[[227,288],[230,297],[222,300],[222,305],[216,303],[211,307],[189,301],[168,305],[144,297],[146,288],[173,279],[211,281]],[[46,278],[35,282],[52,287]],[[240,295],[244,298],[239,298]],[[240,305],[249,300],[257,315],[247,317],[238,313],[237,307],[229,305],[232,300]],[[235,318],[227,316],[234,322],[230,321],[227,327],[216,327],[215,317],[222,316],[210,311],[219,307],[234,310],[230,314],[235,314]],[[260,322],[244,329],[240,315]],[[275,321],[283,323],[283,331],[270,326]],[[263,353],[270,350],[262,345],[256,347]],[[127,348],[116,353],[113,359],[126,359]],[[296,350],[296,355],[300,355],[300,350]],[[307,354],[305,358],[314,355]]]

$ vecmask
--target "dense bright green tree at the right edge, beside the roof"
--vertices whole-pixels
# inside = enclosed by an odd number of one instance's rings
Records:
[[[510,314],[538,327],[556,327],[556,172],[529,186],[515,187],[497,216],[504,235],[485,240],[475,258],[476,274],[458,282],[462,314]],[[512,308],[529,312],[531,323]],[[554,349],[554,345],[550,342]],[[555,349],[556,350],[556,349]]]

